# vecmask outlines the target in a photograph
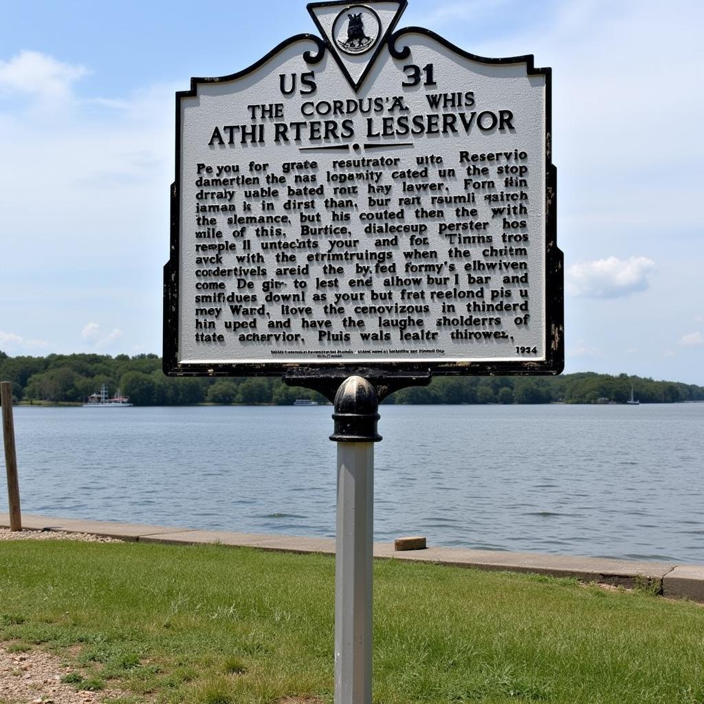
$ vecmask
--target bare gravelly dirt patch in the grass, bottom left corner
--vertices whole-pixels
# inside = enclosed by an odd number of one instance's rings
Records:
[[[82,691],[62,677],[77,672],[65,667],[55,655],[29,650],[8,653],[8,643],[0,643],[0,702],[8,704],[99,704],[125,696],[124,692],[103,689]]]

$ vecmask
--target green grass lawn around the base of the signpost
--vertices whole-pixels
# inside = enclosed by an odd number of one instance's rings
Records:
[[[328,556],[0,543],[0,640],[130,704],[332,702],[333,614]],[[647,590],[382,561],[374,634],[376,704],[704,704],[704,608]]]

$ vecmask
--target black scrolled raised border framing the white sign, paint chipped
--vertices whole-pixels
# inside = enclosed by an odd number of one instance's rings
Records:
[[[513,56],[508,58],[486,58],[470,54],[459,46],[448,42],[439,34],[425,27],[404,27],[393,34],[387,35],[386,45],[391,57],[403,61],[410,56],[410,48],[403,46],[397,49],[396,44],[406,34],[422,34],[434,39],[446,49],[453,51],[458,56],[477,63],[510,64],[523,63],[529,76],[542,75],[545,77],[546,87],[546,134],[545,134],[545,160],[546,160],[546,210],[545,210],[545,360],[530,360],[526,358],[515,361],[503,362],[394,362],[377,363],[376,360],[360,358],[354,362],[266,362],[253,363],[179,363],[178,362],[178,328],[179,328],[179,267],[180,267],[180,171],[181,171],[181,101],[186,97],[198,94],[201,84],[218,83],[236,80],[245,77],[257,70],[263,63],[279,54],[291,44],[296,42],[314,42],[318,48],[316,54],[310,51],[303,53],[306,63],[319,63],[325,50],[329,49],[327,42],[315,34],[296,34],[281,42],[274,49],[265,54],[259,61],[248,68],[220,77],[194,77],[191,78],[191,87],[187,91],[176,93],[176,161],[175,182],[171,185],[170,198],[170,258],[163,269],[163,372],[171,377],[279,377],[282,375],[295,375],[302,377],[345,377],[364,370],[366,375],[383,378],[394,375],[557,375],[562,372],[565,365],[565,336],[564,336],[564,273],[562,251],[557,244],[557,169],[552,162],[552,70],[550,68],[536,68],[534,56]],[[384,42],[380,42],[383,46]],[[334,55],[334,51],[331,52]]]

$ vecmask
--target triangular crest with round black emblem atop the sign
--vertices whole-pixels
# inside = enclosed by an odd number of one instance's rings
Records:
[[[408,0],[313,2],[308,12],[354,92],[358,92]]]

